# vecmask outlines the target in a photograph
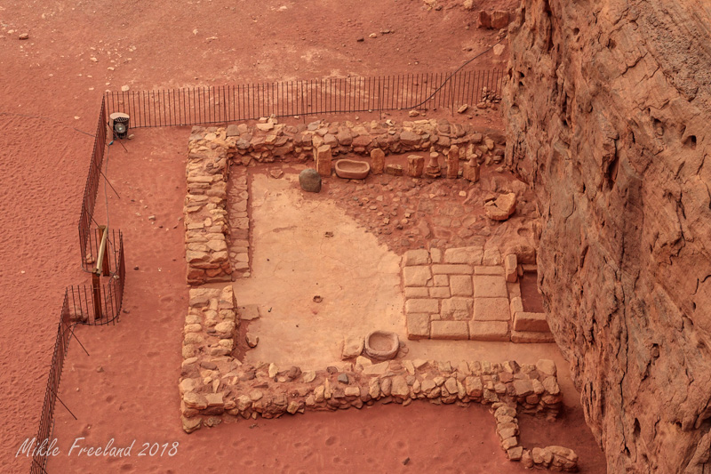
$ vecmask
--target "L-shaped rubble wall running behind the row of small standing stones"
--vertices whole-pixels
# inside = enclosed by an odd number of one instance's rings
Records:
[[[477,131],[472,125],[446,119],[419,119],[402,125],[390,120],[284,125],[265,118],[253,126],[193,127],[183,208],[188,284],[225,282],[250,274],[244,166],[315,160],[315,167],[330,176],[332,159],[355,154],[373,157],[371,173],[419,176],[427,171],[425,156],[435,154],[443,177],[478,181],[480,165],[500,165],[503,170],[505,145],[500,133]],[[421,153],[408,158],[407,169],[385,164],[388,154],[407,152]],[[240,173],[236,188],[228,189],[229,173]],[[518,251],[520,261],[533,262],[532,247]]]

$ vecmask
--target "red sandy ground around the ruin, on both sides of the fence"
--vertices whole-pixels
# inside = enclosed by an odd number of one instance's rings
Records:
[[[474,14],[453,2],[430,12],[416,0],[174,5],[0,5],[3,471],[29,468],[28,458],[15,453],[36,435],[61,298],[67,285],[86,282],[76,222],[93,139],[73,127],[94,133],[104,90],[444,71],[466,60],[468,48],[477,52],[496,35],[476,30]],[[381,28],[395,33],[368,37]],[[29,40],[18,40],[25,32]],[[358,36],[365,41],[357,43]],[[492,58],[490,53],[483,67]],[[522,470],[505,461],[491,415],[474,406],[375,406],[364,413],[260,420],[253,428],[238,422],[185,435],[176,382],[188,293],[178,221],[188,130],[136,134],[127,146],[142,153],[124,154],[113,145],[108,168],[122,197],[110,197],[109,211],[112,227],[124,231],[130,312],[116,326],[79,328],[91,357],[71,343],[61,394],[79,421],[58,404],[55,432],[63,454],[52,459],[51,472]],[[98,215],[104,215],[102,199],[103,190]],[[150,214],[156,224],[148,222]],[[525,429],[525,417],[522,423]],[[581,470],[604,471],[577,404],[562,422],[536,426],[537,438],[574,448]],[[134,452],[118,461],[69,458],[76,436],[92,445],[113,437],[118,446],[135,438],[139,445],[177,440],[180,447],[174,457],[139,458]],[[534,446],[525,431],[523,442]]]

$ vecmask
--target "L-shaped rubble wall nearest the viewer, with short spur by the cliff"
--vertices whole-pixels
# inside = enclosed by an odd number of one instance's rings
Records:
[[[375,402],[408,406],[472,403],[491,406],[500,446],[510,461],[526,467],[578,470],[578,455],[563,446],[526,449],[520,445],[518,414],[555,420],[563,393],[552,360],[519,366],[488,361],[390,360],[357,356],[324,370],[251,365],[233,354],[243,315],[232,286],[190,290],[180,372],[183,430],[214,427],[226,419],[278,418],[308,411],[337,411]],[[247,315],[244,315],[247,316]],[[247,318],[252,316],[247,316]]]

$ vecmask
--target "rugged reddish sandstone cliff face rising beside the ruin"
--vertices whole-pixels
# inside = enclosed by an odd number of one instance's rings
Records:
[[[711,4],[524,0],[507,165],[609,472],[711,470]]]

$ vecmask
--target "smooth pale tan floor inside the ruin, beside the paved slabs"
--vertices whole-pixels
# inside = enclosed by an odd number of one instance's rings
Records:
[[[279,179],[251,172],[249,182],[252,275],[233,283],[240,305],[260,306],[261,317],[247,328],[260,341],[246,352],[246,362],[323,369],[340,362],[344,338],[381,329],[400,336],[408,359],[521,364],[553,359],[564,399],[579,398],[555,344],[409,341],[400,255],[337,203],[305,198],[294,171]],[[323,301],[314,301],[315,296]]]

